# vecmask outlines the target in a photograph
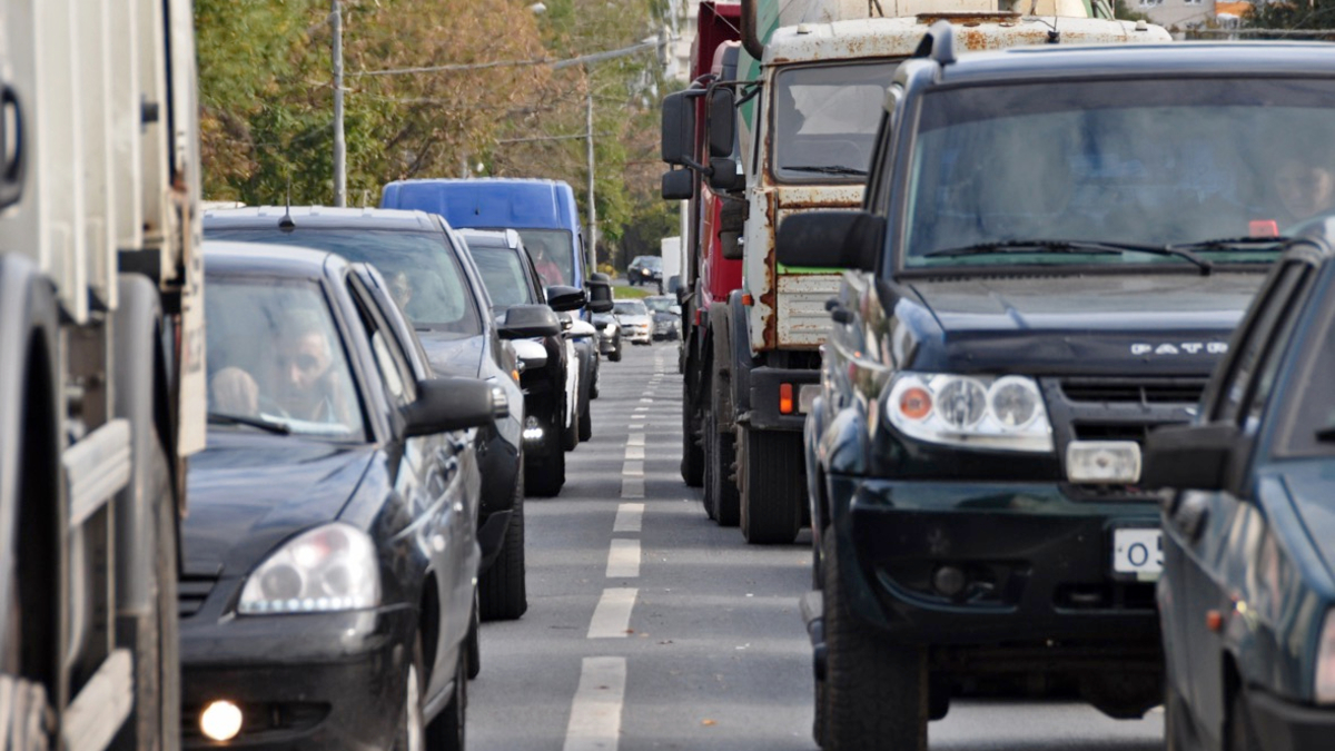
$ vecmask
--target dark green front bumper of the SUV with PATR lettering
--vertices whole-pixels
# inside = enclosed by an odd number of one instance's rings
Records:
[[[1076,501],[1056,484],[850,476],[832,476],[829,492],[854,615],[888,637],[987,648],[999,669],[1007,645],[1159,659],[1155,584],[1112,575],[1113,528],[1157,528],[1155,504]],[[963,572],[951,596],[944,567]]]

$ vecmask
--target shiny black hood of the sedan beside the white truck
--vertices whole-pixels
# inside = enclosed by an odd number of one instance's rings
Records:
[[[190,460],[186,572],[243,575],[292,533],[334,521],[375,452],[372,445],[210,430],[208,448]]]

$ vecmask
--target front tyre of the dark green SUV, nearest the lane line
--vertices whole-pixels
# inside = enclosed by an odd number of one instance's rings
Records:
[[[926,661],[913,647],[878,637],[853,616],[834,536],[825,539],[825,751],[926,751]],[[820,692],[818,692],[820,696]]]

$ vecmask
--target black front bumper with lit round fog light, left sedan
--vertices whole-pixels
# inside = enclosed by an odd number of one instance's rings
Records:
[[[391,748],[414,620],[410,608],[396,605],[182,621],[182,747]],[[240,735],[226,743],[199,728],[200,712],[215,700],[232,702],[244,715]]]

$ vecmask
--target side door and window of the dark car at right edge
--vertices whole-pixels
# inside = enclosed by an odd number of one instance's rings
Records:
[[[1163,628],[1169,679],[1200,728],[1215,739],[1222,738],[1227,708],[1224,644],[1207,613],[1232,612],[1238,588],[1231,583],[1248,576],[1270,539],[1252,497],[1250,446],[1312,278],[1312,266],[1304,261],[1286,261],[1276,269],[1243,322],[1242,335],[1234,338],[1236,351],[1222,365],[1218,388],[1207,394],[1207,421],[1235,425],[1242,434],[1232,458],[1238,481],[1224,490],[1184,490],[1164,514],[1164,567],[1171,573]]]

